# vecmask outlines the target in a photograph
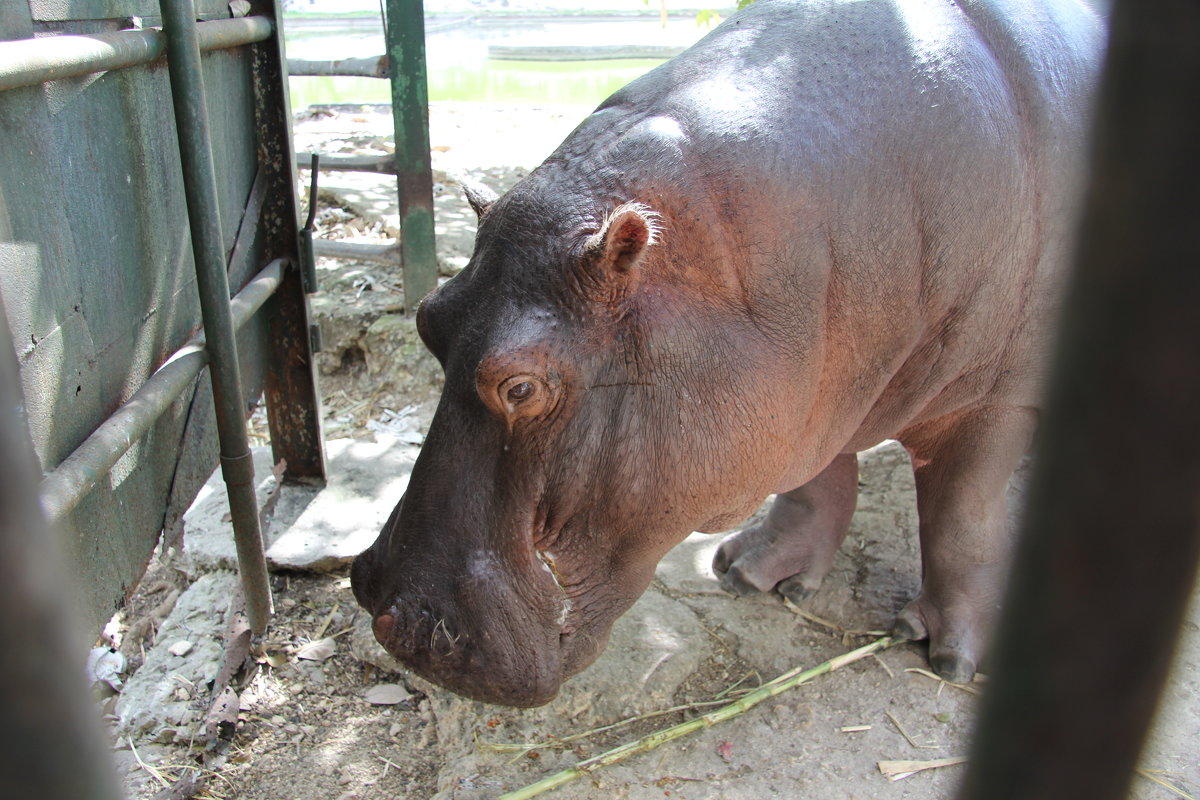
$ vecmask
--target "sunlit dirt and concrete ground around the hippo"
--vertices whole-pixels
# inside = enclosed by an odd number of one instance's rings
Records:
[[[462,266],[473,233],[469,211],[452,199],[455,175],[481,175],[503,188],[548,154],[584,113],[433,107],[439,260],[446,272]],[[383,124],[374,113],[310,118],[298,128],[298,150],[386,149]],[[325,196],[326,235],[378,240],[389,234],[386,210],[368,213],[347,205],[354,204],[344,196]],[[397,306],[400,278],[389,272],[391,267],[323,267],[329,279],[323,283],[320,313],[341,314],[343,326],[353,326],[354,319],[368,325]],[[370,348],[359,350],[354,355],[354,347],[335,345],[323,362],[330,435],[371,438],[401,416],[398,409],[409,407],[413,410],[403,416],[419,441],[428,423],[436,375],[416,374],[408,384],[380,383],[366,363]],[[541,709],[473,703],[398,670],[371,639],[344,567],[275,572],[277,614],[266,657],[240,690],[241,711],[228,762],[205,776],[196,796],[497,798],[660,727],[696,718],[788,669],[816,666],[869,643],[916,593],[919,564],[911,474],[902,451],[884,446],[864,455],[862,475],[851,534],[805,614],[778,597],[733,599],[722,593],[708,566],[720,536],[694,535],[660,565],[650,590],[618,622],[600,661]],[[1014,488],[1014,505],[1019,494]],[[190,597],[200,581],[214,582],[216,594]],[[193,603],[197,610],[187,619],[196,630],[205,614],[223,619],[228,595],[221,588],[233,585],[230,581],[220,572],[202,576],[172,557],[156,560],[110,630],[112,643],[128,657],[126,681],[156,643],[178,636],[169,626],[160,636],[168,613]],[[1157,771],[1135,778],[1133,796],[1200,793],[1198,622],[1200,607],[1194,604],[1164,698],[1160,730],[1144,759],[1147,770]],[[202,637],[193,632],[191,638]],[[314,644],[324,642],[329,644]],[[936,763],[967,753],[978,693],[986,691],[986,684],[952,686],[925,668],[920,645],[888,649],[733,720],[595,770],[546,796],[950,798],[961,765],[896,781],[883,774],[888,762]],[[132,729],[109,716],[114,756],[132,798],[152,798],[198,769],[203,746],[198,716],[210,698],[203,682],[182,675],[168,680],[173,680],[172,698],[191,704],[194,714],[169,726],[155,722]],[[390,697],[380,704],[368,692]],[[114,708],[115,698],[102,702],[106,712],[112,715]],[[913,768],[901,768],[907,769]]]

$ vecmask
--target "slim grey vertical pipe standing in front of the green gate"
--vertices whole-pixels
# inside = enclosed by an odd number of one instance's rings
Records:
[[[246,437],[241,372],[229,308],[229,277],[221,235],[204,74],[196,40],[196,10],[192,0],[160,0],[160,5],[196,257],[196,283],[208,336],[217,438],[221,441],[221,473],[229,494],[246,615],[253,633],[262,636],[271,615],[271,590],[258,524],[254,465]]]

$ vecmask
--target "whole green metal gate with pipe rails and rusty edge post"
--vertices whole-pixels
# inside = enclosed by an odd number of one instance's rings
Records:
[[[92,628],[218,459],[265,625],[259,397],[286,480],[324,480],[278,11],[230,7],[0,4],[0,297]]]

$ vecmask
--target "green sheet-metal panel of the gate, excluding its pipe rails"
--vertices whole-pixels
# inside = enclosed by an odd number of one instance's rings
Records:
[[[156,0],[2,5],[0,47],[161,25]],[[196,7],[200,19],[230,16],[228,2],[200,0]],[[276,10],[263,1],[251,13],[274,19]],[[295,257],[295,176],[280,62],[275,34],[203,58],[233,291],[269,260]],[[170,98],[163,59],[0,91],[0,297],[43,471],[71,455],[200,326]],[[307,300],[296,269],[287,270],[277,295],[238,341],[247,413],[268,387],[272,429],[292,431],[275,443],[277,457],[287,458],[290,477],[320,480]],[[204,369],[59,521],[89,624],[102,624],[124,600],[164,525],[175,525],[215,467],[211,404]]]

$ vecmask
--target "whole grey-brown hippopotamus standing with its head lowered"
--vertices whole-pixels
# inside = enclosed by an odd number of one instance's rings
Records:
[[[671,547],[773,493],[713,567],[804,602],[856,453],[896,439],[923,576],[895,628],[971,679],[1103,44],[1078,0],[760,0],[503,197],[468,186],[474,254],[416,313],[445,386],[352,569],[379,643],[546,703]]]

